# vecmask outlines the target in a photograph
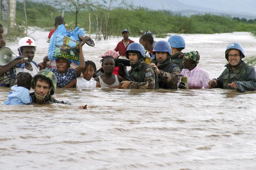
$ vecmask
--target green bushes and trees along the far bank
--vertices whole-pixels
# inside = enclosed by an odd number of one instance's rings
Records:
[[[53,3],[26,1],[28,26],[51,30],[54,27],[54,18],[62,15],[62,10],[55,8]],[[108,14],[109,19],[107,21]],[[73,30],[76,13],[70,10],[65,11],[64,18],[67,29]],[[91,24],[89,23],[89,18]],[[24,26],[25,23],[24,4],[17,1],[16,24]],[[93,8],[80,9],[77,12],[77,26],[85,28],[86,31],[91,29],[92,33],[97,32],[97,29],[101,30],[102,33],[107,30],[108,34],[104,38],[120,36],[121,30],[125,28],[129,29],[133,36],[140,36],[146,30],[151,30],[153,34],[161,37],[168,33],[254,32],[256,30],[256,19],[247,21],[245,18],[240,19],[212,14],[185,17],[174,14],[172,11],[154,11],[123,3],[120,7],[111,8],[111,10],[109,7],[100,4],[93,6]]]

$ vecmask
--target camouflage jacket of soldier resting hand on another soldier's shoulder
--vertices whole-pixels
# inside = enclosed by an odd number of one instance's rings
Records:
[[[157,68],[160,70],[160,74],[158,74],[158,85],[159,88],[165,89],[177,89],[177,84],[179,82],[179,77],[175,76],[175,74],[180,74],[180,69],[177,64],[174,64],[168,57],[168,61],[161,65],[157,66],[157,60],[153,59],[151,63],[156,64]]]

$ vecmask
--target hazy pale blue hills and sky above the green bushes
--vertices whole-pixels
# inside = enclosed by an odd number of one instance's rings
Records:
[[[18,0],[23,1],[23,0]],[[33,2],[52,1],[52,0],[31,0]],[[95,0],[103,3],[102,0]],[[105,5],[109,5],[109,0]],[[123,5],[123,0],[113,2],[112,7]],[[61,2],[61,0],[60,0]],[[126,0],[127,4],[141,6],[152,10],[170,10],[173,13],[179,13],[182,16],[191,14],[211,13],[214,15],[228,15],[248,19],[256,18],[256,1],[255,0]]]

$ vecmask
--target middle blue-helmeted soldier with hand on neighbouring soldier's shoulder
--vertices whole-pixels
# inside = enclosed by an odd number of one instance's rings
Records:
[[[153,59],[150,65],[158,73],[158,85],[159,88],[165,89],[177,89],[179,77],[176,75],[180,74],[180,69],[177,64],[171,62],[171,46],[167,41],[157,41],[154,48]]]

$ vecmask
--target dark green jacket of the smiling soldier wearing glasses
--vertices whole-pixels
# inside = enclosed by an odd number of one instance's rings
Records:
[[[237,91],[255,91],[256,90],[256,72],[255,69],[242,61],[237,69],[232,70],[230,64],[226,64],[227,67],[220,77],[217,78],[216,88],[231,89],[229,83],[235,82],[237,85]],[[234,88],[232,88],[234,89]]]

